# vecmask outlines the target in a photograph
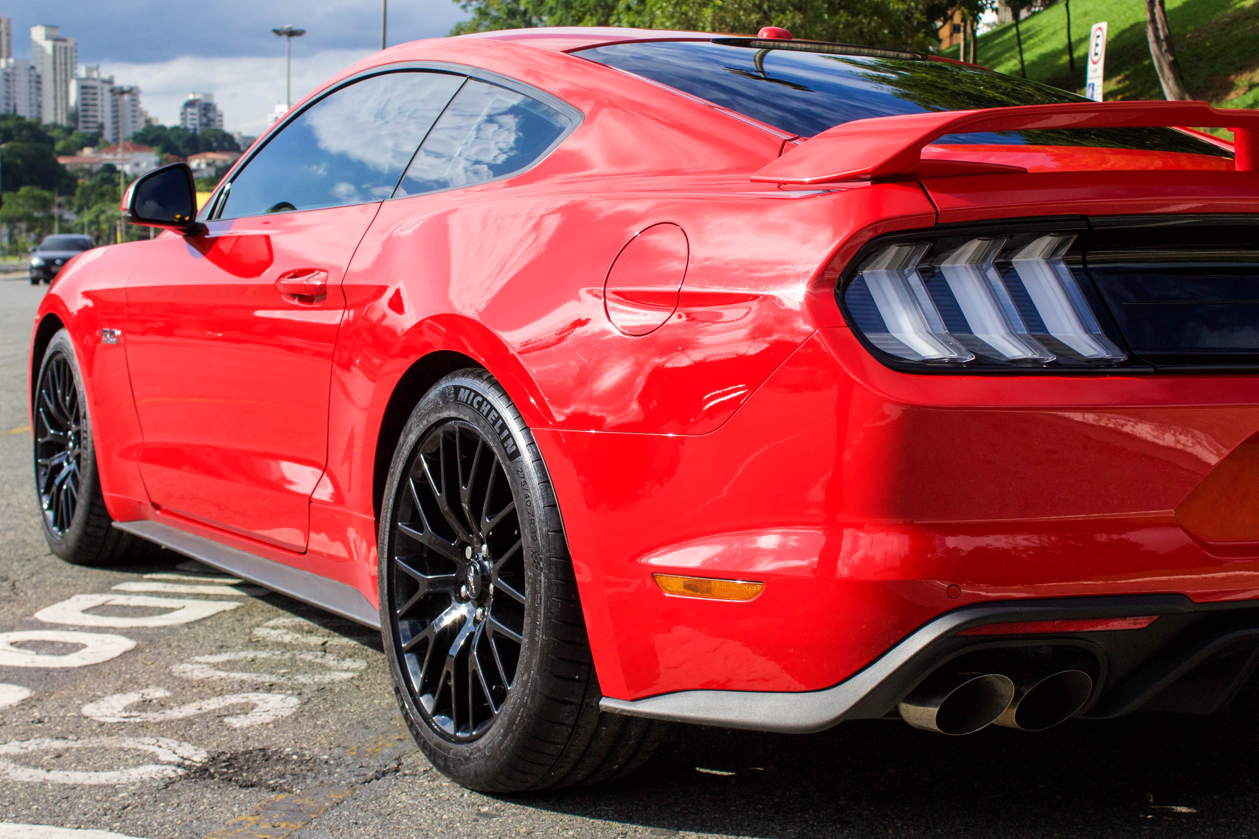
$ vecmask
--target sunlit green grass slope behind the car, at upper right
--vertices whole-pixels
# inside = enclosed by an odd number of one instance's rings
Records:
[[[1172,45],[1194,98],[1231,108],[1259,107],[1259,0],[1166,0]],[[1089,30],[1108,24],[1107,99],[1161,99],[1149,60],[1141,0],[1073,0],[1075,72],[1066,60],[1066,10],[1056,3],[1020,21],[1027,78],[1084,93]],[[977,60],[1020,74],[1013,24],[980,36]],[[949,50],[953,57],[956,50]]]

